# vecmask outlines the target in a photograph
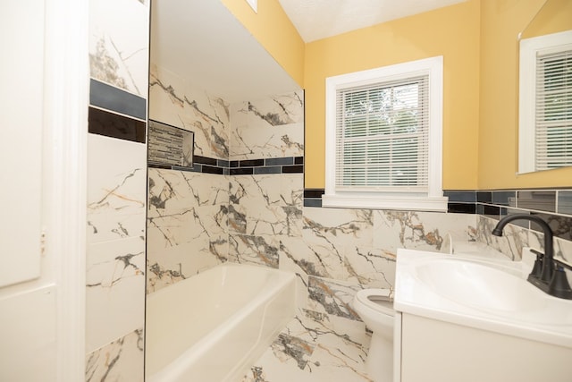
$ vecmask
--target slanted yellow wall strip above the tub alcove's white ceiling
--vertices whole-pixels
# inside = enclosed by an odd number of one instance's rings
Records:
[[[254,13],[246,0],[221,0],[300,88],[304,85],[304,40],[278,0],[258,0]]]

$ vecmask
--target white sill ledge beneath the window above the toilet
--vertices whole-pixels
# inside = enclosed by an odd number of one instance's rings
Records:
[[[364,196],[364,195],[327,195],[322,196],[322,207],[330,208],[371,208],[399,209],[406,211],[447,212],[449,198],[420,196]]]

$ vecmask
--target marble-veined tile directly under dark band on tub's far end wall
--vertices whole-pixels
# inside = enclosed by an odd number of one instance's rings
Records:
[[[231,177],[231,232],[300,236],[303,192],[302,174]]]

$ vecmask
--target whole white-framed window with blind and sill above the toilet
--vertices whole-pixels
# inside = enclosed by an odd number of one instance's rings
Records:
[[[326,80],[323,204],[447,209],[442,56]]]

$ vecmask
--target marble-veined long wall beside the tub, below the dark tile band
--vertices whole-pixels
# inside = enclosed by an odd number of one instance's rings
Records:
[[[227,176],[149,168],[147,293],[225,261]]]

